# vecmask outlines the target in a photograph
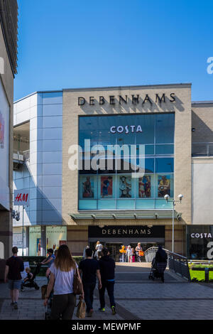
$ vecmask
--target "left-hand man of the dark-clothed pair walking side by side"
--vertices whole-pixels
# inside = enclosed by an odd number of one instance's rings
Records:
[[[96,285],[96,276],[99,280],[99,289],[102,288],[101,275],[99,271],[99,262],[92,259],[92,249],[85,250],[86,259],[82,260],[79,265],[80,275],[82,274],[82,284],[84,289],[84,301],[87,306],[87,316],[92,317],[93,293]]]

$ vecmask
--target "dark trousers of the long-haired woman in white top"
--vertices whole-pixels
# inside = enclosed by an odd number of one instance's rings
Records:
[[[71,320],[75,309],[75,294],[53,295],[51,320]]]

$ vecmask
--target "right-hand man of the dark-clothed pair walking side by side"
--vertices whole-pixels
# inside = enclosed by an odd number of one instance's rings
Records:
[[[100,273],[102,278],[102,289],[99,289],[99,301],[101,312],[105,311],[105,289],[109,296],[111,312],[116,314],[115,301],[114,301],[114,269],[115,262],[114,259],[109,257],[109,250],[107,248],[102,249],[103,257],[99,260]]]

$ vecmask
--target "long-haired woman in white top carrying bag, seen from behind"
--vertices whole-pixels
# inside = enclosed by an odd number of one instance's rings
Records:
[[[77,264],[66,244],[59,247],[57,257],[50,266],[50,281],[44,306],[48,305],[48,298],[52,291],[51,319],[71,320],[75,309],[76,294],[80,294],[83,299],[84,292]]]

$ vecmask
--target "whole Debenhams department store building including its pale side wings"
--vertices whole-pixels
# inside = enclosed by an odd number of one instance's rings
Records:
[[[82,255],[97,240],[115,259],[121,244],[172,249],[175,198],[175,252],[206,258],[212,129],[213,102],[192,102],[191,84],[35,92],[15,102],[13,187],[31,198],[25,254],[67,243]],[[13,244],[22,247],[22,217]]]

